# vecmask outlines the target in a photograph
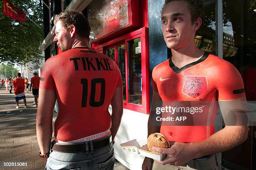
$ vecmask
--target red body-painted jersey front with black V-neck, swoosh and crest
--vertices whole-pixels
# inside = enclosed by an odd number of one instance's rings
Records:
[[[154,67],[153,90],[162,101],[210,101],[205,126],[162,125],[160,132],[170,141],[198,142],[214,134],[219,100],[244,97],[240,73],[229,62],[205,53],[198,61],[178,68],[171,59]],[[206,126],[209,125],[209,126]]]

